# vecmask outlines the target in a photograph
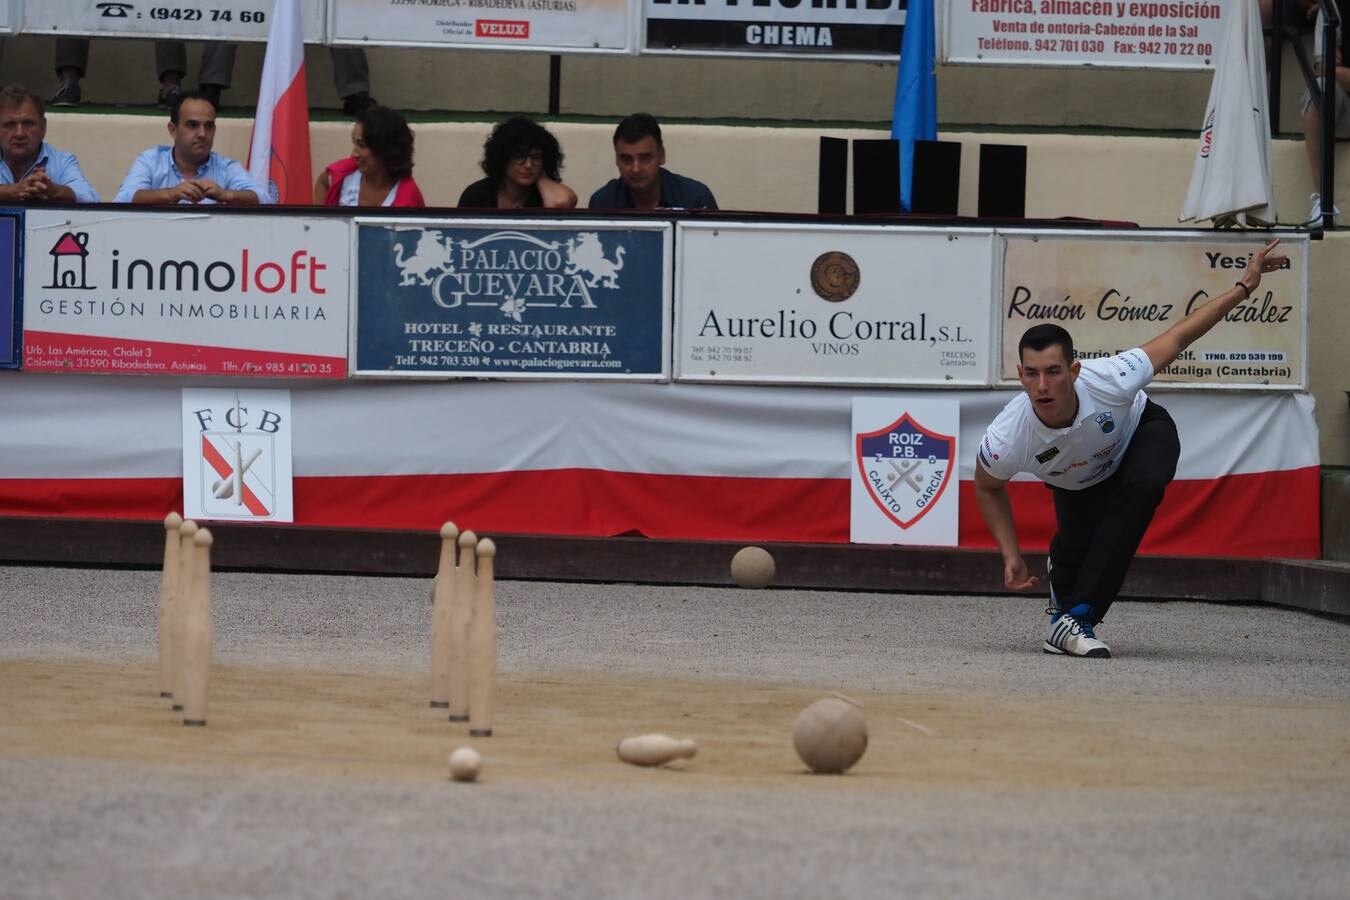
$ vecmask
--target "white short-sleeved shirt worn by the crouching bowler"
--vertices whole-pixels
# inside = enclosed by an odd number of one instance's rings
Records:
[[[984,432],[980,464],[1004,482],[1018,472],[1031,472],[1054,487],[1091,487],[1120,464],[1149,399],[1143,387],[1150,381],[1153,363],[1142,349],[1085,359],[1073,383],[1077,421],[1068,428],[1045,425],[1023,391]]]

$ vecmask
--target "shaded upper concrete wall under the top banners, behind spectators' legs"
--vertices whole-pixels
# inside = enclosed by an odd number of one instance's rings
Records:
[[[51,90],[53,43],[46,36],[11,38],[0,80]],[[189,46],[189,82],[194,81],[198,49]],[[158,90],[153,58],[146,40],[96,40],[85,100],[153,104]],[[369,58],[375,96],[402,109],[541,113],[548,108],[547,55],[374,47]],[[310,103],[335,108],[328,53],[309,47],[306,66]],[[252,105],[261,69],[262,47],[243,45],[224,103]],[[938,115],[949,125],[1195,131],[1210,80],[1206,72],[940,66]],[[1285,65],[1284,81],[1281,131],[1300,132],[1301,82],[1292,62]],[[683,119],[868,123],[890,120],[894,94],[894,65],[567,55],[560,111],[605,117],[647,109]]]

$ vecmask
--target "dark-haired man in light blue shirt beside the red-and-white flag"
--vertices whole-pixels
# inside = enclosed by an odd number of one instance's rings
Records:
[[[119,204],[234,204],[255,206],[266,192],[248,170],[211,147],[216,143],[216,108],[196,90],[169,107],[173,144],[151,147],[131,163],[117,190]]]

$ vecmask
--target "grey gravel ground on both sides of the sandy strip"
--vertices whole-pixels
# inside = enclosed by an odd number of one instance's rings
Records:
[[[416,671],[428,582],[217,573],[216,650]],[[999,696],[1233,698],[1350,715],[1350,626],[1127,602],[1118,658],[1040,653],[1034,598],[501,583],[505,672],[678,675]],[[147,661],[157,575],[0,568],[5,660]],[[3,684],[0,684],[3,690]],[[1339,711],[1335,711],[1339,707]],[[0,723],[3,727],[3,723]],[[78,739],[78,735],[72,735]],[[1053,734],[1046,735],[1048,757]],[[1289,764],[1300,735],[1288,735]],[[0,897],[1335,897],[1342,789],[474,788],[192,773],[0,749]],[[1049,762],[1048,762],[1049,765]]]

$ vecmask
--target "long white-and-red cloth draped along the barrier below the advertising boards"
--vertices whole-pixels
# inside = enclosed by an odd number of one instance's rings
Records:
[[[0,376],[0,514],[157,519],[182,503],[181,382]],[[744,541],[848,541],[856,389],[599,383],[292,386],[296,522]],[[876,397],[932,393],[875,391]],[[976,447],[1014,394],[950,391]],[[1145,553],[1320,555],[1303,393],[1154,395],[1181,434]],[[992,548],[959,460],[960,546]],[[1049,491],[1010,486],[1044,549]]]

